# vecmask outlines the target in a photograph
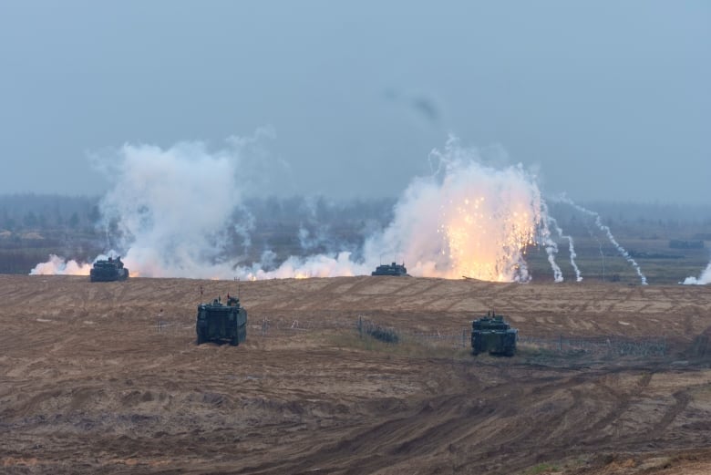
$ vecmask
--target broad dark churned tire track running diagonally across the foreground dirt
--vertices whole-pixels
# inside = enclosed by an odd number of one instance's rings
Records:
[[[509,378],[507,375],[503,377]],[[397,465],[398,460],[411,460],[418,457],[438,458],[443,450],[443,440],[448,440],[448,444],[444,447],[449,449],[445,451],[456,450],[453,448],[466,445],[472,437],[479,437],[479,426],[489,425],[489,421],[497,415],[514,418],[515,412],[507,409],[510,401],[530,398],[531,395],[539,399],[544,398],[551,393],[561,391],[561,387],[572,387],[585,381],[586,378],[574,376],[563,383],[554,382],[550,377],[546,380],[551,381],[533,388],[531,392],[527,390],[525,395],[522,389],[505,386],[489,388],[486,398],[479,404],[472,400],[472,394],[476,392],[425,399],[419,403],[417,410],[408,409],[402,415],[378,415],[376,418],[380,419],[381,423],[374,427],[357,429],[355,435],[347,436],[345,440],[335,444],[326,445],[304,456],[303,460],[293,460],[292,463],[283,466],[261,466],[259,472],[278,469],[278,471],[301,473],[315,470],[316,467],[326,472],[331,470],[341,472],[345,460],[356,459],[355,463],[349,461],[348,465],[357,469],[342,472],[364,473],[392,468]],[[552,425],[555,415],[551,414],[550,418]],[[538,422],[539,424],[510,426],[511,429],[504,429],[495,436],[495,439],[502,444],[502,447],[521,442],[534,443],[532,441],[540,440],[539,436],[545,435],[548,431],[545,424],[541,425],[540,421]],[[479,455],[484,457],[486,454]],[[500,456],[501,451],[489,454],[489,456],[497,455]],[[470,468],[469,465],[467,467]],[[245,471],[252,472],[252,470]]]

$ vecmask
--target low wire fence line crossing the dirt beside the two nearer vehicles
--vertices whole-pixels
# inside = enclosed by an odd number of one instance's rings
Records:
[[[156,332],[161,335],[187,335],[195,332],[194,317],[165,319],[159,315]],[[277,338],[295,336],[316,331],[353,331],[359,336],[372,336],[388,344],[417,343],[428,346],[450,346],[468,348],[471,342],[471,328],[435,329],[419,331],[413,328],[393,325],[379,325],[368,315],[350,318],[319,318],[300,320],[297,318],[269,318],[263,316],[256,322],[248,320],[248,338]],[[560,354],[594,353],[614,356],[665,356],[668,346],[665,336],[622,337],[622,336],[565,336],[554,337],[521,336],[517,338],[520,347],[534,347]]]

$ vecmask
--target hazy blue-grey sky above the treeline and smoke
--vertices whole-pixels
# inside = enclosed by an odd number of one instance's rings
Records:
[[[0,193],[101,193],[88,153],[268,127],[267,192],[397,196],[453,133],[544,193],[711,201],[706,0],[8,0],[0,68]]]

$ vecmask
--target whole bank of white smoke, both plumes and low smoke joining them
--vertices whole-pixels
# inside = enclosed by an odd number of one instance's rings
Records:
[[[167,150],[125,145],[115,160],[102,162],[113,179],[101,201],[104,225],[118,236],[112,246],[117,251],[112,253],[122,255],[131,275],[227,279],[358,275],[375,269],[381,255],[397,255],[413,275],[527,282],[531,275],[526,248],[543,236],[554,277],[562,280],[535,176],[520,164],[483,165],[477,150],[463,149],[453,138],[444,150],[431,154],[430,159],[439,162],[438,172],[410,183],[397,201],[393,221],[366,238],[357,261],[342,248],[292,256],[278,266],[275,254],[267,250],[260,263],[240,263],[239,256],[225,250],[235,235],[242,237],[245,248],[250,244],[253,217],[247,215],[236,226],[233,222],[248,182],[242,155],[250,143],[231,139],[217,152],[201,143],[181,143]],[[310,235],[302,232],[300,237],[302,244],[311,245],[305,242]],[[38,264],[33,274],[70,274],[73,269],[88,274],[88,264],[58,258]]]

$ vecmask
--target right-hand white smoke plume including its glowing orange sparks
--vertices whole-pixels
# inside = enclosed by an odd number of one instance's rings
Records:
[[[530,280],[524,253],[541,224],[535,178],[520,165],[485,166],[477,150],[454,138],[431,158],[438,173],[410,183],[393,222],[366,242],[366,261],[397,254],[413,275]]]

